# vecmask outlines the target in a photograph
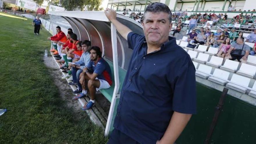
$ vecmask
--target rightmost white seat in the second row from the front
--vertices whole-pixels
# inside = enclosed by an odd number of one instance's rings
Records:
[[[246,77],[253,78],[256,73],[256,67],[253,65],[248,65],[245,63],[242,63],[240,69],[237,71],[237,74],[241,74]]]

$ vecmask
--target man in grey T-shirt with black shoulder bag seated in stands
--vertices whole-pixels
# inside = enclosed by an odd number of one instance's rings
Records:
[[[230,60],[235,60],[237,59],[238,61],[241,61],[241,63],[246,63],[247,61],[247,57],[250,53],[250,47],[246,44],[244,44],[243,42],[244,38],[238,38],[237,42],[233,43],[232,46],[230,47],[230,49],[227,51],[226,55],[225,55],[225,59],[230,59]],[[234,50],[241,50],[240,54],[232,54],[232,52]],[[237,52],[237,51],[236,51]]]

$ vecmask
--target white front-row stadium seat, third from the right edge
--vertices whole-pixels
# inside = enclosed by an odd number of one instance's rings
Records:
[[[227,83],[230,72],[216,68],[212,75],[213,76],[208,78],[209,81],[212,81],[224,86]]]

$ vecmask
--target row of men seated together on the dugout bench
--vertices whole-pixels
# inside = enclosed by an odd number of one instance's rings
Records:
[[[67,35],[56,27],[56,35],[49,37],[57,62],[64,63],[60,68],[67,73],[62,79],[68,78],[69,85],[77,85],[78,89],[73,94],[78,94],[75,100],[85,97],[87,90],[90,92],[90,101],[82,109],[90,109],[95,103],[95,92],[99,89],[107,89],[112,85],[111,69],[109,64],[101,58],[100,48],[91,46],[89,40],[80,41],[72,29],[68,29]]]

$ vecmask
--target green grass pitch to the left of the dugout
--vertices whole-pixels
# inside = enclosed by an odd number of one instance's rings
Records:
[[[107,142],[85,111],[65,107],[43,63],[50,34],[34,35],[32,20],[0,17],[0,144]]]

